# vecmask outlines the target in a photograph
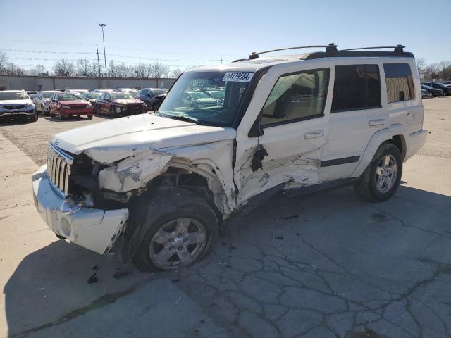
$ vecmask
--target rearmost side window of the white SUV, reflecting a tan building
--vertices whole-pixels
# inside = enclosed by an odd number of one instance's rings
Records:
[[[407,63],[384,63],[385,83],[388,103],[412,100],[415,98],[414,80]]]

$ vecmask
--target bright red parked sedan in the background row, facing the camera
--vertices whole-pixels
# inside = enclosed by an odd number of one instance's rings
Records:
[[[51,118],[56,115],[60,119],[66,116],[87,115],[91,120],[94,115],[94,108],[89,101],[70,92],[55,93],[51,96],[49,111]]]

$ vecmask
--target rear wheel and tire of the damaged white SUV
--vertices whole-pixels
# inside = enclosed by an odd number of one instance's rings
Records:
[[[355,185],[355,190],[366,201],[387,201],[400,186],[401,176],[400,149],[393,144],[384,143],[376,151],[373,161],[360,177],[360,182]]]

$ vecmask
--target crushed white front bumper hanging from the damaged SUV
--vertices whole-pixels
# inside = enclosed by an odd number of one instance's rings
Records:
[[[32,188],[37,211],[51,231],[97,253],[111,249],[128,219],[128,209],[85,208],[64,199],[51,185],[45,165],[32,175]]]

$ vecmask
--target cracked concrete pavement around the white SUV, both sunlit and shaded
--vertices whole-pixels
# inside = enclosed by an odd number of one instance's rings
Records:
[[[37,165],[0,137],[0,337],[451,337],[447,100],[425,102],[431,142],[390,201],[278,194],[174,273],[57,240],[32,204]]]

